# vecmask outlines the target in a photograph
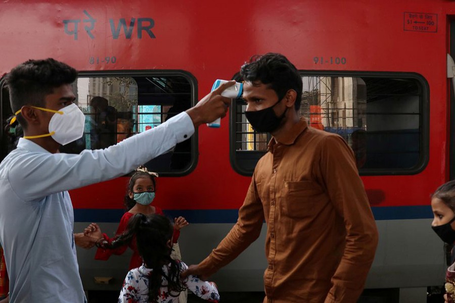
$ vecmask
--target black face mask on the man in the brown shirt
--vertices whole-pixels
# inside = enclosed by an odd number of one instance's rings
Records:
[[[248,122],[250,122],[255,131],[272,132],[280,126],[280,123],[286,115],[288,108],[286,107],[283,115],[277,117],[274,112],[274,107],[279,104],[282,99],[283,98],[279,99],[276,104],[272,105],[269,108],[260,111],[245,112],[245,117],[247,118]]]

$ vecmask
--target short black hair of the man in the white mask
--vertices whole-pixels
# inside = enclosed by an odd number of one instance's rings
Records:
[[[53,93],[54,88],[73,83],[76,78],[77,71],[74,68],[52,58],[19,64],[5,78],[13,113],[24,105],[44,107],[46,95]],[[27,127],[21,115],[17,120],[23,128]]]

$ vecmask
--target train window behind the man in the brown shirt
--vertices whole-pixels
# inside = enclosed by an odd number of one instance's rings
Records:
[[[241,80],[236,78],[236,80]],[[354,151],[361,175],[415,174],[428,158],[428,84],[410,73],[303,74],[299,114],[310,127],[337,133]],[[270,134],[257,133],[235,100],[231,163],[251,175]]]

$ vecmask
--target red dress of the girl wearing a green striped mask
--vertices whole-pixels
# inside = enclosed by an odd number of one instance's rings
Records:
[[[155,206],[155,214],[164,216],[163,210],[160,209],[159,207],[156,207],[156,206]],[[123,215],[122,219],[120,220],[120,224],[118,225],[117,232],[115,233],[116,235],[120,235],[126,230],[126,226],[128,225],[128,221],[129,221],[129,219],[131,219],[132,216],[134,216],[134,215],[131,214],[131,213],[128,213],[128,212],[126,212]],[[172,237],[174,243],[177,243],[179,235],[180,235],[180,231],[174,229],[174,234],[173,234],[173,237]],[[114,238],[109,238],[105,233],[103,233],[103,237],[107,241],[109,241],[109,243],[112,242],[113,240],[115,240],[115,237]],[[131,270],[133,268],[140,267],[142,265],[142,258],[141,258],[141,256],[139,256],[138,247],[136,246],[135,237],[133,238],[133,240],[128,245],[123,245],[123,246],[120,246],[120,247],[115,248],[115,249],[98,248],[97,254],[95,255],[95,259],[96,260],[108,260],[109,257],[111,257],[112,255],[121,255],[121,254],[123,254],[123,252],[125,252],[125,250],[126,250],[126,248],[128,246],[133,251],[133,255],[131,257],[131,261],[129,262],[129,269]]]

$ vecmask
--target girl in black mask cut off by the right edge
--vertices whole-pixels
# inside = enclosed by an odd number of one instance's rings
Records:
[[[431,209],[434,214],[431,227],[442,241],[453,245],[455,243],[455,180],[442,184],[436,189],[431,196]],[[455,263],[447,269],[445,282],[445,302],[455,303]]]

